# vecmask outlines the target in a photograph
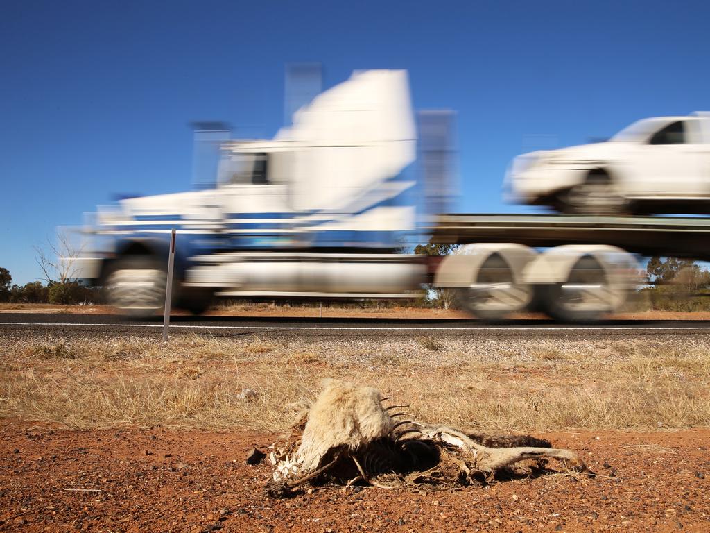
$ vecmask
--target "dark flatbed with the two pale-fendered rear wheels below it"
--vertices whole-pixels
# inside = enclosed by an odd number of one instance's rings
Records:
[[[559,321],[595,321],[643,284],[635,256],[710,259],[710,218],[581,215],[435,217],[431,240],[460,244],[433,274],[481,318],[532,309]]]

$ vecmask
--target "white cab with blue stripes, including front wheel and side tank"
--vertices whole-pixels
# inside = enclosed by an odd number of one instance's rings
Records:
[[[416,142],[406,72],[356,73],[274,139],[224,142],[214,188],[99,212],[91,231],[109,247],[84,258],[84,277],[126,313],[151,316],[175,228],[177,303],[195,312],[215,294],[411,297],[424,267],[393,252],[417,230]]]

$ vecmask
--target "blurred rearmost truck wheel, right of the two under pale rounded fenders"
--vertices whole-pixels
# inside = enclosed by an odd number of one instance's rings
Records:
[[[591,323],[613,310],[615,289],[608,283],[603,266],[589,255],[581,257],[569,272],[567,281],[539,285],[545,312],[557,321]]]

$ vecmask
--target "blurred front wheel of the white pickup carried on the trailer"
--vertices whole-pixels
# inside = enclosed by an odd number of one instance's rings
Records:
[[[567,215],[626,215],[629,211],[628,201],[618,194],[611,176],[601,168],[567,190],[560,203]]]

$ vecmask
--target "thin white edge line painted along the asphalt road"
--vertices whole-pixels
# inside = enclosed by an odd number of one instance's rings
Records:
[[[75,326],[93,326],[102,328],[162,328],[162,324],[109,324],[109,323],[72,323],[72,322],[0,322],[0,325],[75,325]],[[698,326],[659,326],[648,327],[648,326],[626,326],[626,325],[590,325],[590,326],[541,326],[540,328],[531,328],[528,326],[511,326],[509,328],[503,326],[481,326],[476,328],[443,328],[440,326],[425,326],[422,328],[414,327],[394,327],[394,326],[382,326],[382,327],[364,327],[364,326],[337,326],[337,325],[181,325],[173,324],[170,325],[170,329],[204,329],[204,330],[342,330],[342,331],[370,331],[370,330],[383,330],[383,331],[590,331],[590,330],[600,330],[600,331],[637,331],[637,330],[668,330],[668,331],[678,331],[678,330],[710,330],[710,326],[698,325]]]

